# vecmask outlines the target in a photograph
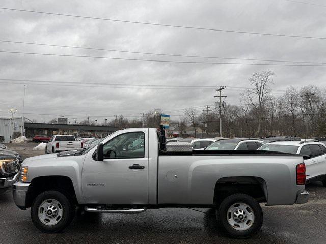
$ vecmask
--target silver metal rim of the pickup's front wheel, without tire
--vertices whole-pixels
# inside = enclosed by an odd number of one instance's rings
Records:
[[[45,225],[51,226],[58,224],[62,216],[62,205],[55,199],[46,199],[39,206],[38,217]]]

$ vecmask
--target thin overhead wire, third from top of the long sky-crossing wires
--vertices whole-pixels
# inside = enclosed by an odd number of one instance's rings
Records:
[[[54,53],[36,53],[36,52],[14,52],[14,51],[0,51],[0,52],[1,52],[1,53],[14,53],[14,54],[43,55],[43,56],[86,57],[86,58],[102,58],[102,59],[132,60],[132,61],[159,62],[159,63],[179,63],[179,64],[271,65],[271,66],[311,66],[311,67],[326,67],[326,65],[265,64],[265,63],[226,63],[226,62],[197,62],[197,61],[175,61],[175,60],[157,60],[157,59],[140,59],[140,58],[121,58],[121,57],[99,57],[99,56],[84,56],[84,55],[69,55],[69,54],[54,54]]]

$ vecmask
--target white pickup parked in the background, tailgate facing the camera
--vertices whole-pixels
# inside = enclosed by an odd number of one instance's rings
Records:
[[[57,135],[52,136],[45,147],[45,153],[59,153],[60,151],[72,151],[83,149],[83,142],[76,141],[74,136]]]

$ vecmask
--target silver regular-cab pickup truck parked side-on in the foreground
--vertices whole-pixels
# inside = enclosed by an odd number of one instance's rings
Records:
[[[306,203],[300,155],[268,151],[167,152],[154,128],[117,131],[79,152],[25,159],[13,197],[46,233],[72,221],[76,206],[88,212],[135,214],[164,207],[216,208],[231,236],[259,231],[259,203]]]

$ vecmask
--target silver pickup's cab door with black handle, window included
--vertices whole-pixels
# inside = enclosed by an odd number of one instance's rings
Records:
[[[104,161],[88,153],[82,173],[86,203],[148,204],[148,129],[104,143]]]

